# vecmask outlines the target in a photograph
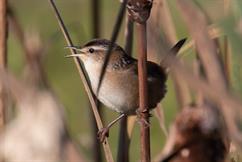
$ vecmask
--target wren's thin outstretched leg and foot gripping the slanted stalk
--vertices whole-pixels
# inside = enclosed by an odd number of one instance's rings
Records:
[[[109,136],[109,129],[115,124],[117,123],[120,119],[122,119],[123,117],[125,116],[125,114],[121,114],[119,115],[115,120],[113,120],[112,122],[110,122],[108,124],[108,126],[100,129],[98,131],[98,138],[101,142],[104,141],[105,137],[108,137]]]

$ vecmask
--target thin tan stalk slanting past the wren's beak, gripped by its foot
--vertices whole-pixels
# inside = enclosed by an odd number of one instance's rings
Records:
[[[66,41],[67,41],[68,46],[73,46],[73,43],[72,43],[72,41],[70,39],[68,31],[67,31],[67,29],[66,29],[66,27],[64,25],[64,22],[63,22],[63,20],[62,20],[62,18],[60,16],[60,13],[59,13],[58,9],[56,8],[56,5],[55,5],[54,1],[53,0],[49,0],[49,2],[50,2],[51,6],[52,6],[52,8],[54,10],[55,16],[56,16],[56,18],[58,20],[58,23],[60,25],[60,28],[61,28],[61,30],[63,32],[63,35],[64,35]],[[75,50],[70,49],[70,51],[71,51],[72,54],[76,54]],[[84,73],[84,68],[83,68],[83,66],[81,64],[81,60],[79,58],[74,57],[74,61],[76,63],[76,67],[78,69],[78,72],[80,74],[81,80],[82,80],[82,82],[84,84],[84,88],[85,88],[85,90],[87,92],[87,95],[88,95],[88,98],[90,100],[90,103],[91,103],[91,106],[92,106],[92,110],[93,110],[93,113],[94,113],[94,116],[95,116],[95,119],[96,119],[96,122],[97,122],[98,129],[101,130],[103,128],[103,123],[102,123],[100,115],[98,113],[97,105],[96,105],[96,102],[95,102],[95,98],[93,96],[93,92],[92,92],[92,90],[90,88],[90,84],[89,84],[88,80],[86,79],[86,76],[85,76],[85,73]],[[106,157],[107,162],[113,162],[114,160],[113,160],[113,157],[112,157],[111,149],[110,149],[110,146],[108,144],[107,138],[105,138],[105,140],[103,142],[103,148],[104,148],[105,157]]]

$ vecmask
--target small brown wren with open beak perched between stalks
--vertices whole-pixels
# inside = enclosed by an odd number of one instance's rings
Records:
[[[105,106],[121,113],[117,118],[119,120],[125,115],[135,114],[139,107],[138,61],[114,44],[97,94],[102,66],[110,44],[106,39],[94,39],[82,48],[69,47],[75,49],[77,54],[67,57],[78,57],[82,60],[94,94]],[[155,108],[164,97],[166,80],[165,70],[158,64],[147,61],[149,109]]]

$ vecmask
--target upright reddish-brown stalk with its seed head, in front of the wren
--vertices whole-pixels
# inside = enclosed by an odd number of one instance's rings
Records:
[[[129,17],[137,24],[138,42],[138,79],[139,79],[139,111],[141,129],[141,161],[150,162],[150,128],[148,91],[147,91],[147,31],[146,22],[150,16],[153,0],[129,0],[127,4]]]

